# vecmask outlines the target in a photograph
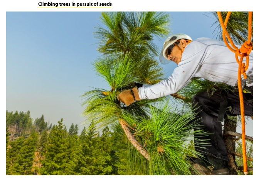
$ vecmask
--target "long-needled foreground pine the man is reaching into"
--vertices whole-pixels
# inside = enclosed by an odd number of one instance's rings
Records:
[[[193,132],[195,123],[188,124],[194,119],[192,110],[173,108],[168,105],[168,97],[137,101],[129,107],[116,99],[130,82],[155,84],[162,79],[162,68],[154,59],[158,52],[153,38],[168,34],[168,15],[102,13],[101,20],[106,28],[99,27],[96,37],[104,58],[94,62],[94,69],[110,89],[95,89],[83,95],[87,122],[95,120],[99,127],[120,123],[126,137],[119,138],[129,140],[125,142],[127,151],[119,152],[120,158],[126,157],[126,174],[191,175],[192,166],[184,152],[192,150],[186,150],[185,144],[190,135],[202,134]]]

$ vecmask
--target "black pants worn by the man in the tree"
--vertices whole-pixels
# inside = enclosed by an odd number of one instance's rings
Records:
[[[240,115],[240,101],[238,92],[217,91],[212,96],[211,93],[202,92],[192,99],[192,105],[199,119],[201,128],[209,135],[204,135],[200,139],[205,140],[207,145],[202,146],[195,141],[195,150],[204,155],[209,155],[222,160],[227,160],[227,150],[222,140],[222,123],[219,121],[219,109],[223,94],[226,96],[227,106],[231,106],[231,115]],[[248,94],[244,94],[244,113],[246,116],[253,115],[253,102],[248,99]],[[249,94],[251,95],[251,94]],[[252,96],[252,95],[251,95]]]

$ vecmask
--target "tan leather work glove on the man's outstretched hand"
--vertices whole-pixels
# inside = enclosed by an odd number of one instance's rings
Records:
[[[132,89],[122,91],[120,94],[118,94],[117,99],[126,106],[129,106],[135,101],[141,101],[138,87],[133,87]]]

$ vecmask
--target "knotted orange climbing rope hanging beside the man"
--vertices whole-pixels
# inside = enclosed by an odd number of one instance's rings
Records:
[[[225,22],[222,20],[221,12],[217,12],[219,21],[221,23],[221,27],[223,29],[223,40],[227,47],[235,53],[236,61],[239,64],[238,68],[238,91],[239,91],[239,98],[240,98],[240,108],[241,108],[241,119],[242,119],[242,146],[243,146],[243,164],[244,164],[244,174],[248,174],[248,168],[247,168],[247,157],[246,157],[246,143],[245,143],[245,119],[244,119],[244,99],[243,99],[243,89],[241,84],[241,75],[244,76],[244,79],[247,79],[246,76],[246,70],[249,67],[249,54],[251,53],[251,50],[253,49],[253,43],[251,42],[251,33],[252,33],[252,18],[253,18],[253,12],[249,12],[249,20],[248,20],[248,40],[244,42],[244,44],[241,46],[240,49],[237,48],[237,46],[234,45],[231,37],[229,36],[229,33],[227,32],[227,22],[229,20],[229,17],[231,15],[231,12],[227,13]],[[229,43],[231,46],[229,45]],[[238,59],[238,56],[240,56],[240,60]],[[243,59],[246,57],[246,64],[243,63]]]

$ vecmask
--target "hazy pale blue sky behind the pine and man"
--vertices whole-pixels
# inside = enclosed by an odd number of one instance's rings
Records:
[[[167,12],[173,34],[192,39],[216,38],[215,19],[209,12]],[[100,54],[93,32],[102,25],[100,12],[7,12],[6,13],[6,109],[27,112],[57,124],[63,118],[84,127],[80,97],[92,87],[108,89],[91,63]],[[165,39],[155,43],[162,48]],[[176,64],[161,65],[166,77]],[[247,135],[253,135],[249,120]]]

